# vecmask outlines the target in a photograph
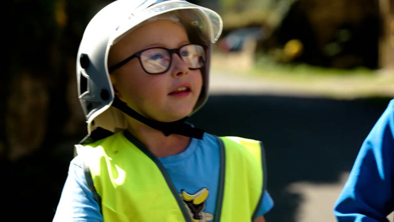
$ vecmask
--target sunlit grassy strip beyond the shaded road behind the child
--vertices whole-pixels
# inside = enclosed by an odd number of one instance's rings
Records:
[[[219,55],[220,57],[220,55]],[[394,71],[371,70],[364,67],[334,69],[307,64],[279,64],[261,59],[251,65],[237,65],[237,58],[226,64],[212,65],[228,75],[261,81],[286,91],[330,98],[352,99],[360,97],[394,97]],[[216,57],[217,60],[218,57]],[[214,59],[214,60],[216,60]],[[231,65],[234,64],[234,65]]]

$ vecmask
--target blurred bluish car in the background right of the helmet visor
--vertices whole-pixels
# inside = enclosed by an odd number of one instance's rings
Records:
[[[219,47],[223,51],[240,51],[246,39],[259,41],[263,38],[262,27],[245,27],[230,31],[219,42]]]

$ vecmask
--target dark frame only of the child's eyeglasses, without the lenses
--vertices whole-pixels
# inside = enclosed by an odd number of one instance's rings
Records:
[[[195,44],[195,43],[188,43],[188,44],[185,44],[185,45],[180,46],[179,48],[174,48],[174,49],[168,49],[168,48],[165,48],[165,47],[150,47],[150,48],[143,49],[143,50],[141,50],[141,51],[137,51],[137,52],[135,52],[134,54],[132,54],[132,55],[130,55],[129,57],[127,57],[126,59],[122,60],[121,62],[116,63],[115,65],[109,67],[109,68],[108,68],[108,72],[111,73],[111,72],[114,71],[115,69],[118,69],[118,68],[124,66],[124,65],[125,65],[126,63],[128,63],[130,60],[132,60],[132,59],[134,59],[134,58],[138,58],[138,60],[140,61],[141,67],[144,69],[144,71],[145,71],[146,73],[148,73],[148,74],[150,74],[150,75],[162,74],[162,73],[164,73],[164,72],[166,72],[166,71],[168,71],[168,70],[170,69],[171,64],[172,64],[172,54],[173,54],[173,53],[176,53],[176,54],[178,54],[179,57],[182,59],[181,48],[183,48],[183,47],[185,47],[185,46],[187,46],[187,45],[198,45],[198,46],[203,47],[203,49],[204,49],[204,58],[206,58],[206,55],[207,55],[206,49],[207,49],[207,47],[206,47],[205,45],[200,45],[200,44]],[[146,51],[146,50],[155,49],[155,48],[167,50],[167,51],[169,52],[169,55],[170,55],[170,63],[168,64],[168,67],[167,67],[164,71],[161,71],[161,72],[148,72],[147,70],[145,70],[145,67],[144,67],[144,65],[142,64],[142,61],[141,61],[141,54],[142,54],[144,51]],[[182,60],[183,60],[183,59],[182,59]],[[190,69],[190,70],[201,69],[202,67],[205,66],[205,62],[206,62],[206,61],[204,61],[204,64],[203,64],[201,67],[199,67],[199,68],[190,68],[190,67],[189,67],[189,69]]]

